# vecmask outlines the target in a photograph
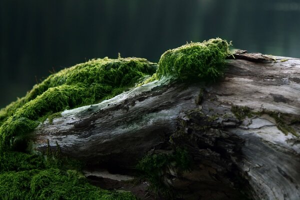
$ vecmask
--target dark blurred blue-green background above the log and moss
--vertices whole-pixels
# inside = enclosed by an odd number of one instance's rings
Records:
[[[300,57],[298,0],[0,0],[0,107],[50,71],[108,56],[160,55],[213,37]]]

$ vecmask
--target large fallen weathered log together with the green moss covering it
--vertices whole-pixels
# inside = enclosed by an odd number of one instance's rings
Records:
[[[16,191],[43,199],[53,187],[34,186],[30,174],[65,184],[78,178],[65,168],[81,161],[94,184],[141,199],[299,199],[300,61],[233,56],[217,38],[166,51],[151,77],[157,65],[139,58],[92,60],[49,76],[0,111],[0,181],[15,188],[7,179],[26,175],[33,186]],[[24,147],[46,162],[10,152]],[[48,169],[52,162],[60,168]]]

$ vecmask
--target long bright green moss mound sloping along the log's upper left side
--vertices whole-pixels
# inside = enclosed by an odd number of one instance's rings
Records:
[[[143,58],[105,57],[51,74],[0,110],[0,146],[15,147],[47,116],[113,97],[155,70],[156,64]]]

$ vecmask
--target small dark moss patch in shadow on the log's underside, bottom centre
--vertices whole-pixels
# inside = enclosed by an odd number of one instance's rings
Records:
[[[175,191],[172,191],[164,181],[169,167],[176,168],[177,172],[188,170],[191,158],[188,152],[182,148],[176,148],[172,153],[154,153],[145,155],[136,165],[143,176],[151,183],[150,189],[155,193],[161,193],[164,197],[172,199]]]

